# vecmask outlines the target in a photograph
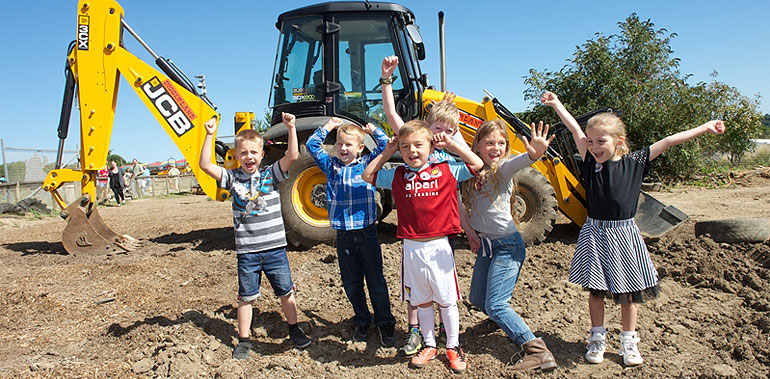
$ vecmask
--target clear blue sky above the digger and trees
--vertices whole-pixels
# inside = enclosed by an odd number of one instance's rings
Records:
[[[160,55],[192,78],[205,73],[209,97],[232,130],[236,111],[263,114],[278,42],[277,16],[315,1],[125,0],[126,21]],[[428,48],[423,72],[438,85],[437,13],[446,20],[447,82],[457,94],[481,100],[489,90],[509,109],[522,111],[523,77],[530,68],[561,68],[575,46],[618,31],[631,12],[678,34],[674,55],[692,83],[719,80],[744,95],[770,95],[767,16],[770,2],[705,1],[403,1],[420,25]],[[472,4],[473,6],[468,6]],[[0,5],[0,138],[6,146],[55,149],[64,88],[67,44],[75,36],[75,0],[4,1]],[[134,54],[151,62],[133,39]],[[765,46],[765,47],[762,47]],[[181,153],[150,112],[121,82],[110,147],[142,162],[177,159]],[[762,113],[770,113],[767,99]],[[73,116],[77,111],[73,110]],[[79,142],[73,117],[66,148]],[[9,157],[9,161],[13,159]]]

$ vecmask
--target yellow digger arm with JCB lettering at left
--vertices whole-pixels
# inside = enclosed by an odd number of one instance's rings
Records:
[[[83,194],[94,197],[97,171],[107,159],[122,75],[179,147],[203,191],[211,198],[226,199],[228,194],[218,189],[214,179],[199,166],[206,137],[203,123],[217,116],[213,107],[123,47],[123,8],[116,1],[81,0],[77,13],[76,46],[67,64],[77,84],[80,104],[82,168],[77,171],[57,167],[49,172],[43,188],[62,208],[66,205],[57,189],[63,183],[79,180]],[[60,138],[66,138],[66,127],[63,134],[60,126]]]

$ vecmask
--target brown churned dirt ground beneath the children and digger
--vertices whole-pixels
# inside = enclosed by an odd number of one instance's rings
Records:
[[[770,242],[715,243],[694,223],[725,217],[770,218],[770,169],[725,176],[720,189],[656,192],[691,220],[650,242],[661,296],[639,308],[645,362],[624,368],[617,355],[619,308],[607,308],[611,338],[604,363],[583,360],[590,326],[587,296],[567,283],[578,228],[560,220],[547,241],[527,249],[512,301],[559,367],[540,377],[761,377],[770,375]],[[142,249],[112,256],[64,252],[58,217],[0,218],[0,376],[3,377],[446,377],[445,358],[421,371],[395,348],[352,343],[352,316],[333,247],[290,251],[303,326],[313,345],[292,348],[272,291],[255,306],[256,353],[231,358],[236,341],[236,262],[229,203],[205,196],[138,199],[102,206],[113,229]],[[379,226],[397,333],[400,244],[395,218]],[[458,241],[465,295],[474,255]],[[266,281],[264,286],[268,286]],[[608,303],[609,304],[609,303]],[[467,301],[460,303],[466,377],[510,376],[518,348]],[[528,375],[521,375],[528,377]]]

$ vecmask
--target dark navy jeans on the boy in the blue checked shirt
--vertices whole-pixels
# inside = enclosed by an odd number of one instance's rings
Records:
[[[364,278],[369,288],[369,298],[374,310],[374,324],[377,326],[395,324],[390,313],[388,283],[382,274],[382,251],[380,238],[374,224],[358,230],[337,231],[337,257],[339,258],[342,286],[353,305],[353,323],[369,326],[372,314],[366,305]]]

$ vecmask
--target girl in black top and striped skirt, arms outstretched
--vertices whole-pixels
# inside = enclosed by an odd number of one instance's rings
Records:
[[[634,222],[642,179],[650,170],[650,161],[669,147],[705,133],[721,134],[725,125],[709,121],[629,152],[626,126],[614,114],[591,117],[583,133],[555,94],[546,92],[541,102],[554,108],[572,132],[583,158],[580,170],[588,217],[580,230],[569,281],[590,291],[591,337],[587,340],[586,361],[604,360],[604,296],[611,294],[620,304],[622,319],[619,355],[626,366],[641,364],[644,360],[637,348],[636,303],[658,295],[658,273]]]

